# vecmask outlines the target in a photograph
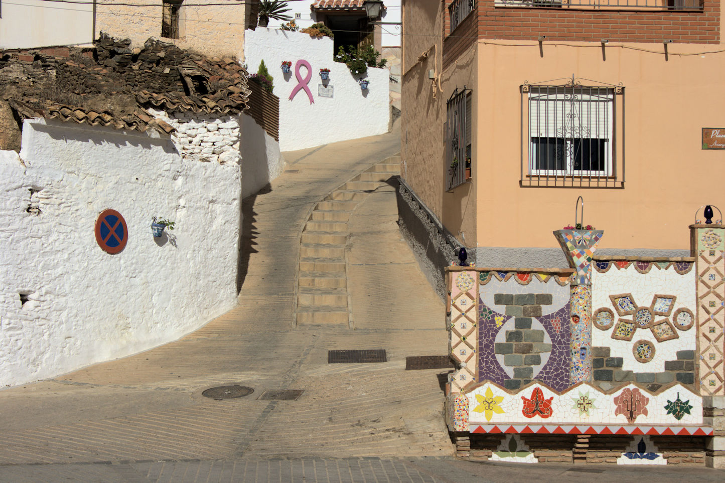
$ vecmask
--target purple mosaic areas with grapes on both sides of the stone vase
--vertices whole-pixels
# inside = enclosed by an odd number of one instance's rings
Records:
[[[504,381],[511,378],[496,359],[494,343],[497,334],[502,330],[502,321],[508,321],[511,316],[499,313],[484,305],[480,297],[479,307],[479,377],[477,380],[484,381],[488,379],[503,386]],[[497,326],[497,318],[500,326]],[[549,360],[534,377],[534,380],[542,381],[557,391],[563,391],[571,386],[569,376],[569,323],[571,320],[569,304],[564,305],[555,313],[536,317],[536,319],[549,334],[552,350]]]

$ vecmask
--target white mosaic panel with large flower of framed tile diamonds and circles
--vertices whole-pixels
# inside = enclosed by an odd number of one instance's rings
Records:
[[[688,261],[595,260],[593,379],[695,383],[695,270]]]

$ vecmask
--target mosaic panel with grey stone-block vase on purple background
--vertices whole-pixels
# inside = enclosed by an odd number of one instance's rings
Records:
[[[479,273],[479,381],[571,384],[569,273]]]

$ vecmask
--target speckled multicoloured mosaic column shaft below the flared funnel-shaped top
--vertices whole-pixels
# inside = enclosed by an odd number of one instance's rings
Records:
[[[571,383],[592,378],[592,287],[571,287],[569,355]]]

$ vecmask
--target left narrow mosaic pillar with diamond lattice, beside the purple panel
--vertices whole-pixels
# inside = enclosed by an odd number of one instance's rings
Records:
[[[462,392],[476,382],[476,345],[478,340],[478,273],[449,271],[450,350],[460,368],[450,376],[451,392]]]

